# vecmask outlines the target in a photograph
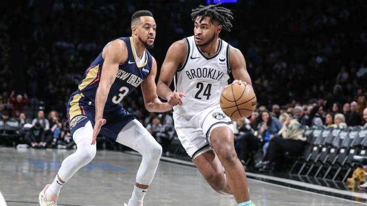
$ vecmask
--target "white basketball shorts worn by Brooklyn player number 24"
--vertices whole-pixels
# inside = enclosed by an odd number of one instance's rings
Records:
[[[229,127],[233,131],[231,119],[220,106],[209,107],[194,116],[173,113],[178,139],[188,155],[194,160],[206,151],[213,150],[210,136],[217,127]]]

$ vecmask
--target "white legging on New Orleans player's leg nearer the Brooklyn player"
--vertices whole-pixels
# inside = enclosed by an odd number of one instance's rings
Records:
[[[129,122],[117,135],[117,142],[139,152],[142,162],[139,166],[136,183],[150,185],[162,154],[162,146],[137,120]]]

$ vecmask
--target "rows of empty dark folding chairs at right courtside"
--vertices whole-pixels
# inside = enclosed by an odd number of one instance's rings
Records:
[[[289,173],[343,181],[351,175],[354,155],[367,157],[367,128],[307,128],[303,155]]]

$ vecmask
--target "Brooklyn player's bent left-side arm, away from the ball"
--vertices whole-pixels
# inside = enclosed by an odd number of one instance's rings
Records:
[[[172,106],[182,105],[181,97],[185,96],[185,93],[173,92],[169,86],[176,70],[185,62],[186,53],[186,41],[176,41],[168,49],[166,58],[162,64],[156,91],[160,97],[166,99]]]

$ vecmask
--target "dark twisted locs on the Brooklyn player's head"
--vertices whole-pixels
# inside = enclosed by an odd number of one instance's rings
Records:
[[[210,17],[212,22],[213,20],[218,21],[225,31],[230,32],[230,28],[232,27],[230,20],[233,19],[232,12],[229,9],[219,7],[218,5],[220,4],[208,6],[200,5],[199,8],[191,10],[192,20],[195,21],[198,16],[201,16],[200,21],[202,21],[204,17]]]

